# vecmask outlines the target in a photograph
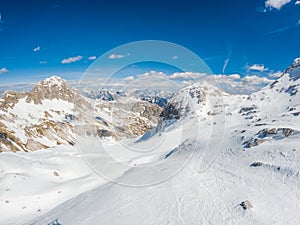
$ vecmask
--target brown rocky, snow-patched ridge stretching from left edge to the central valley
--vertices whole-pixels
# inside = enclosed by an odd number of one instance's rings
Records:
[[[32,91],[6,91],[0,99],[0,152],[73,145],[74,131],[129,138],[156,125],[159,106],[139,99],[125,104],[113,100],[109,91],[98,92],[97,102],[82,97],[57,76],[39,82]]]

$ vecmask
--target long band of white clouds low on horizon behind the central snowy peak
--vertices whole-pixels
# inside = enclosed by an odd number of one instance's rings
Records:
[[[167,75],[164,72],[150,71],[139,74],[136,77],[128,76],[121,80],[116,80],[109,86],[126,87],[130,83],[130,87],[148,87],[149,88],[179,88],[191,85],[201,80],[215,85],[228,93],[232,94],[249,94],[260,90],[262,87],[272,83],[281,74],[280,71],[272,72],[268,77],[256,75],[247,75],[242,77],[239,74],[213,74],[194,72],[177,72]]]

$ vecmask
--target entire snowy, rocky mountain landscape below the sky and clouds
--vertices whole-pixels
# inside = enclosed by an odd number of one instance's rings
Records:
[[[0,224],[298,224],[299,89],[295,59],[250,95],[6,91]]]

